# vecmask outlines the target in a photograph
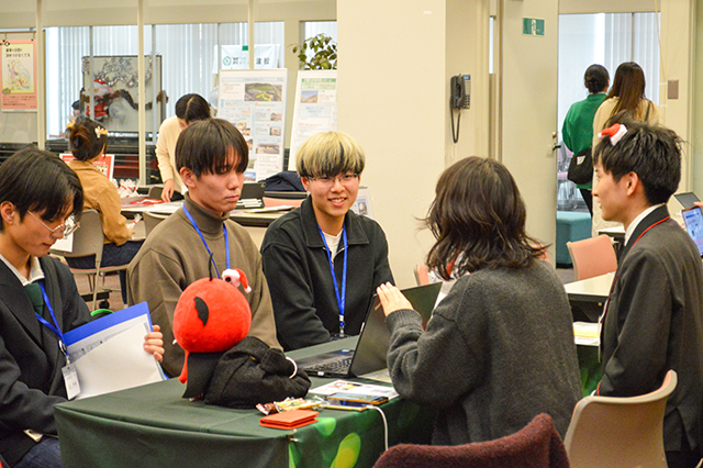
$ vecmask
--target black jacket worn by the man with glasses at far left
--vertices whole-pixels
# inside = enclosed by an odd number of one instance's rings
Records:
[[[68,268],[48,256],[40,263],[62,332],[90,321]],[[46,307],[44,317],[52,322]],[[66,401],[65,365],[58,338],[40,324],[20,280],[0,261],[0,454],[10,465],[34,446],[24,430],[56,434],[54,405]]]

